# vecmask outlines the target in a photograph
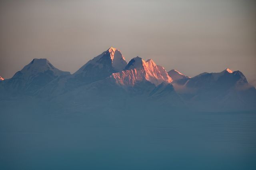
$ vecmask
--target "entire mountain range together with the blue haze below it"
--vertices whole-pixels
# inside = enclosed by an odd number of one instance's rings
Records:
[[[241,71],[188,77],[110,47],[74,74],[33,59],[0,94],[0,169],[256,167],[256,89]]]

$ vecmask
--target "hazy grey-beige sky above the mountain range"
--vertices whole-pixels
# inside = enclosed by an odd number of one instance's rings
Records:
[[[256,79],[255,0],[1,0],[0,75],[33,58],[78,70],[110,46],[189,76]],[[256,84],[256,83],[255,83]]]

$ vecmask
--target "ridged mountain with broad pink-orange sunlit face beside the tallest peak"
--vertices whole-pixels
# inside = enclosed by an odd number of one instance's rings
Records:
[[[117,84],[131,87],[142,81],[149,81],[156,86],[163,82],[172,82],[164,67],[156,65],[152,59],[144,61],[140,57],[133,58],[123,71],[113,73],[111,77]]]

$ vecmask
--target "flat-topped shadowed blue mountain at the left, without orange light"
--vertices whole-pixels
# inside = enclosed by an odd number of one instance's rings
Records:
[[[19,92],[37,91],[57,77],[67,75],[70,75],[70,72],[57,69],[47,59],[33,59],[8,79],[5,86]]]

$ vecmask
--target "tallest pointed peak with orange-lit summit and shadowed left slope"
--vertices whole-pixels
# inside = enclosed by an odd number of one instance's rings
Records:
[[[122,71],[127,65],[121,52],[113,47],[94,57],[83,65],[73,76],[84,82],[104,79],[112,73]]]

